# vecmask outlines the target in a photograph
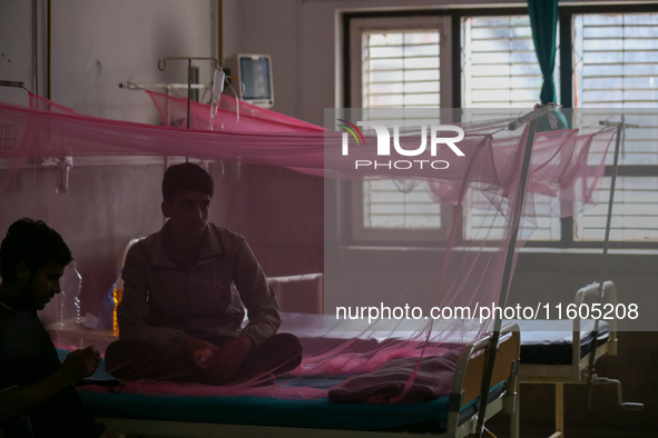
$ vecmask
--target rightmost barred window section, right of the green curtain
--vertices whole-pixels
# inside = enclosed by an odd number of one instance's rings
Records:
[[[647,108],[658,108],[658,13],[573,16],[573,101],[582,108],[618,108],[639,129],[626,133],[610,240],[658,241],[658,126]],[[623,110],[623,111],[621,111]],[[591,118],[591,117],[590,117]],[[620,120],[619,117],[613,120]],[[583,126],[598,120],[582,120]],[[612,155],[607,157],[611,172]],[[601,203],[574,220],[576,241],[602,240],[611,177]]]

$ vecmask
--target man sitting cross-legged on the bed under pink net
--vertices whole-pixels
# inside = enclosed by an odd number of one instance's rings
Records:
[[[208,223],[214,187],[193,163],[165,172],[169,220],[124,266],[119,340],[106,351],[115,377],[229,385],[299,365],[298,339],[276,335],[278,303],[246,240]]]

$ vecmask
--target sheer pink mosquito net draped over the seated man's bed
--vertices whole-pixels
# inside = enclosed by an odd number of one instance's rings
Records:
[[[208,106],[191,102],[190,129],[183,129],[187,123],[187,101],[151,91],[149,96],[164,127],[86,116],[31,93],[29,108],[0,103],[0,157],[12,160],[11,170],[1,182],[0,196],[9,190],[27,160],[66,156],[185,156],[239,161],[285,167],[324,177],[327,181],[369,179],[376,183],[393,179],[402,191],[426,183],[432,199],[451,212],[449,231],[436,238],[442,248],[440,256],[429,257],[418,269],[406,269],[409,278],[392,286],[377,282],[390,282],[386,272],[362,277],[354,275],[357,269],[353,269],[346,275],[343,268],[351,261],[331,257],[327,260],[325,257],[325,297],[328,297],[325,308],[330,309],[347,302],[341,301],[344,297],[350,297],[348,302],[354,308],[371,306],[372,291],[386,287],[395,291],[393,296],[382,298],[386,307],[411,303],[420,308],[477,309],[489,303],[504,303],[509,283],[507,288],[503,286],[503,271],[510,241],[518,250],[536,227],[537,218],[571,216],[596,203],[595,193],[603,175],[606,151],[615,133],[580,135],[576,129],[536,133],[524,202],[519,215],[514,213],[514,208],[520,201],[529,129],[524,126],[510,131],[508,127],[515,119],[513,117],[451,123],[464,130],[459,147],[465,157],[455,160],[448,148],[440,149],[431,159],[450,160],[450,167],[440,173],[428,167],[411,172],[394,167],[357,171],[355,160],[376,161],[377,157],[373,148],[356,147],[351,150],[351,159],[345,160],[342,132],[246,103],[240,103],[238,109],[229,97],[223,97],[214,118]],[[371,133],[365,131],[366,143],[375,143]],[[414,145],[418,147],[419,133],[419,129],[403,132],[400,136],[402,146],[409,146],[407,149]],[[592,157],[597,158],[596,163],[592,163]],[[475,210],[483,219],[472,227],[472,238],[467,239],[461,225],[464,216]],[[519,233],[514,241],[517,228]],[[511,258],[512,272],[515,252]],[[364,261],[359,260],[356,265],[361,262]],[[416,287],[420,283],[422,287]],[[318,316],[320,319],[305,318],[284,320],[282,329],[287,325],[310,334],[307,341],[313,348],[305,351],[302,365],[279,378],[276,385],[262,386],[261,378],[226,387],[140,380],[125,382],[122,390],[161,395],[317,398],[326,397],[330,390],[340,392],[344,389],[352,396],[354,387],[336,384],[336,376],[379,372],[375,376],[380,381],[403,379],[402,385],[393,394],[379,395],[369,391],[373,387],[376,389],[376,385],[365,379],[369,390],[356,390],[365,394],[361,401],[426,399],[428,391],[422,389],[426,389],[429,380],[434,381],[431,397],[450,389],[450,374],[436,374],[442,368],[432,362],[433,358],[450,362],[451,355],[454,355],[451,351],[459,351],[465,342],[493,327],[491,315],[479,319],[438,320],[377,316],[357,321],[350,317],[336,319],[333,313]],[[390,364],[395,367],[387,367]],[[436,376],[441,377],[436,379]],[[306,385],[311,377],[314,384]],[[359,385],[356,382],[356,387]]]

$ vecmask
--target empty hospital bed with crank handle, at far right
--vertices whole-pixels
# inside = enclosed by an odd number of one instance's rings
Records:
[[[599,293],[600,285],[595,282],[578,290],[573,303],[579,308]],[[613,308],[617,306],[617,290],[612,281],[603,282],[603,297]],[[564,385],[589,382],[590,355],[595,349],[595,361],[605,355],[617,355],[617,319],[600,321],[595,346],[595,321],[581,320],[514,320],[521,328],[520,384],[549,384],[556,391],[556,431],[551,438],[564,434]],[[621,382],[595,374],[591,385],[615,385],[619,405],[625,409],[641,410],[641,404],[623,402]],[[519,402],[519,399],[517,399]],[[511,437],[519,437],[520,407],[517,405],[511,417]]]

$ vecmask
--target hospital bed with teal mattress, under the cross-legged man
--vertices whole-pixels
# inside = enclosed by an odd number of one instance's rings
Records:
[[[85,390],[80,395],[99,421],[120,434],[374,438],[400,436],[404,431],[465,437],[475,430],[490,341],[487,336],[463,348],[450,394],[432,401],[364,405],[247,396],[164,397]],[[488,418],[515,405],[519,347],[518,326],[507,325],[495,355]]]

